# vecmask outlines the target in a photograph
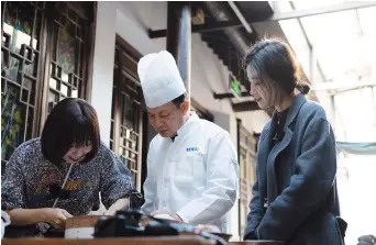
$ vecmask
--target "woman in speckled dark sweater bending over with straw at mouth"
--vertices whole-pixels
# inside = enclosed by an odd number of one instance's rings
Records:
[[[42,136],[23,143],[11,156],[1,207],[12,226],[43,235],[46,226],[62,229],[67,218],[99,208],[99,192],[106,214],[114,214],[128,207],[131,190],[131,172],[100,141],[95,109],[68,98],[52,110]]]

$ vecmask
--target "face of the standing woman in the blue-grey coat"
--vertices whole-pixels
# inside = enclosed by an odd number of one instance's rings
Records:
[[[251,96],[257,102],[261,109],[268,109],[275,105],[276,102],[276,89],[272,86],[272,80],[265,80],[268,78],[259,77],[251,66],[247,66],[246,74],[251,82]]]

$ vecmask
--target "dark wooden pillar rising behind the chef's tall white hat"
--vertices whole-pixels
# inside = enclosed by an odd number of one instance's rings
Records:
[[[177,62],[190,103],[191,15],[189,2],[167,2],[166,47]]]

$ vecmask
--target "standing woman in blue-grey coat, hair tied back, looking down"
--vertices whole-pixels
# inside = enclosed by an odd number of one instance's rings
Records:
[[[261,109],[275,113],[257,147],[244,240],[341,244],[335,140],[324,109],[306,99],[309,87],[299,81],[299,65],[287,44],[261,41],[245,63],[251,94]]]

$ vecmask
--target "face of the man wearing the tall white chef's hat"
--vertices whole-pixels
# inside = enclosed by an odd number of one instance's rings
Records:
[[[188,108],[188,101],[184,101],[180,105],[168,102],[157,108],[147,108],[148,121],[161,136],[173,137],[183,125]]]

